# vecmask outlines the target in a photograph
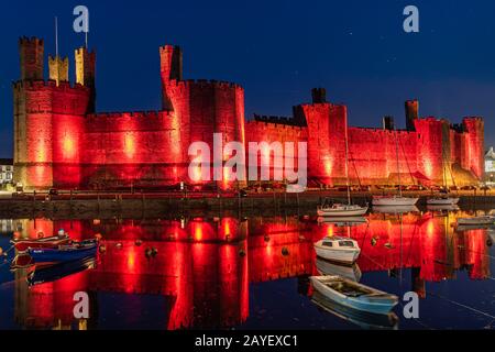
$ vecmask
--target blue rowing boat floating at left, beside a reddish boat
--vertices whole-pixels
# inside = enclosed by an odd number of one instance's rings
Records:
[[[58,263],[95,256],[97,249],[98,241],[88,240],[70,245],[61,245],[58,249],[30,249],[29,254],[34,263]]]

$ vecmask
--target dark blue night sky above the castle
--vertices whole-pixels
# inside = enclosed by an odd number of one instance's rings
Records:
[[[0,157],[12,155],[18,37],[44,37],[45,54],[55,52],[57,15],[74,77],[77,4],[90,11],[99,111],[160,109],[158,46],[170,43],[184,50],[185,78],[241,84],[248,117],[289,114],[321,86],[353,125],[377,127],[384,114],[404,125],[404,101],[418,98],[421,116],[484,117],[495,144],[493,0],[10,1],[0,12]],[[419,34],[403,31],[407,4],[419,8]]]

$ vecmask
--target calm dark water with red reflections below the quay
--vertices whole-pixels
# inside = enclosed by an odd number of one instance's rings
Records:
[[[2,220],[3,250],[12,237],[65,229],[76,239],[101,234],[106,251],[94,268],[48,270],[34,286],[26,279],[33,267],[11,272],[6,262],[0,329],[493,329],[495,231],[455,229],[465,215],[373,213],[353,227],[304,216]],[[356,266],[316,257],[312,243],[331,234],[359,242]],[[332,307],[309,284],[319,271],[399,297],[414,290],[420,317],[405,319],[402,305],[384,319]],[[88,320],[74,318],[76,292],[89,294]]]

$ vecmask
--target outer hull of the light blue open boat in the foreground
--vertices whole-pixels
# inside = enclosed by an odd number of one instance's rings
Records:
[[[336,276],[337,277],[337,276]],[[318,277],[318,276],[311,276],[310,280],[312,286],[316,290],[318,290],[320,294],[322,294],[328,299],[352,309],[361,310],[361,311],[367,311],[371,314],[376,315],[387,315],[391,312],[391,310],[398,304],[398,299],[395,296],[387,295],[389,298],[380,299],[380,300],[366,300],[366,299],[360,299],[359,297],[350,297],[344,296],[343,294],[331,289],[327,285],[324,285],[320,279],[326,277]],[[360,284],[358,284],[360,285]],[[370,290],[381,293],[386,295],[385,293],[378,292],[376,289],[373,289],[371,287],[361,285],[361,287],[369,288]]]

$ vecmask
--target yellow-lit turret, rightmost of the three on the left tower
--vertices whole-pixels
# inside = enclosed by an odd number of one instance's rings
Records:
[[[76,84],[91,89],[88,113],[96,110],[96,53],[80,47],[75,52],[76,57]]]

